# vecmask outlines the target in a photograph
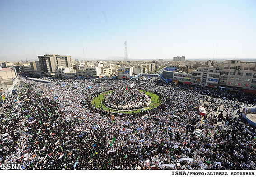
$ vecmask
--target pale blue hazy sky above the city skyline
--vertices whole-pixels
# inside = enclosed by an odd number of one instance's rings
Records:
[[[256,58],[256,0],[0,0],[0,24],[0,56]]]

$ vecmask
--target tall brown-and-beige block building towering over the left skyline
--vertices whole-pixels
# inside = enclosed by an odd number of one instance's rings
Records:
[[[60,56],[58,54],[45,54],[38,56],[41,72],[43,75],[52,76],[57,66],[71,67],[71,56]]]

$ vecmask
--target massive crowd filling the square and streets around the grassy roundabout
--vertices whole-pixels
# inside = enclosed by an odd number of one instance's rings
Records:
[[[0,110],[0,134],[9,134],[0,140],[0,163],[20,163],[24,169],[256,169],[256,128],[237,112],[243,105],[256,106],[255,95],[135,81],[135,89],[162,102],[126,114],[107,112],[91,100],[105,91],[130,89],[130,81],[19,78],[19,113],[9,112],[9,99]],[[74,82],[81,86],[72,88]],[[208,112],[204,124],[199,105]],[[195,136],[195,129],[202,136]]]

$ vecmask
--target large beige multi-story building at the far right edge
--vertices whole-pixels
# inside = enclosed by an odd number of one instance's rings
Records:
[[[256,93],[256,63],[226,60],[222,66],[219,86],[224,90]]]

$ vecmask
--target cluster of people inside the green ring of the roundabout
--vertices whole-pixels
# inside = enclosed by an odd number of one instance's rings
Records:
[[[134,88],[118,88],[110,91],[104,98],[103,104],[118,110],[141,109],[150,102],[149,96],[144,91]]]

